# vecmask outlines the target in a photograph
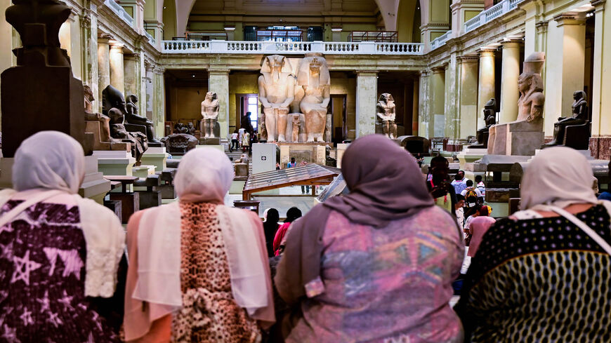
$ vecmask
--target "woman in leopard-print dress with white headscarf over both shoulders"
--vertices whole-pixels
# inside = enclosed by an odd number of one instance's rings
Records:
[[[223,205],[233,176],[223,152],[191,150],[179,201],[131,217],[126,341],[258,342],[275,321],[261,221]]]

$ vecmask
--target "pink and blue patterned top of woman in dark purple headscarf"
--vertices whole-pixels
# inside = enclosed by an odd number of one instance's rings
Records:
[[[308,311],[291,341],[461,342],[448,303],[464,248],[444,210],[432,206],[383,229],[331,212],[323,245],[326,291],[303,304]]]

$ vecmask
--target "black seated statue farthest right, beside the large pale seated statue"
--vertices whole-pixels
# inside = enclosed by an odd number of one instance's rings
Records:
[[[573,93],[573,100],[573,105],[571,106],[572,116],[568,118],[558,118],[558,122],[553,124],[553,140],[545,144],[544,147],[564,145],[568,126],[577,126],[588,122],[588,102],[586,101],[586,92],[583,90],[576,90]],[[589,126],[587,126],[584,130],[579,130],[579,133],[577,134],[579,135],[579,137],[575,137],[577,140],[588,141],[590,137]]]

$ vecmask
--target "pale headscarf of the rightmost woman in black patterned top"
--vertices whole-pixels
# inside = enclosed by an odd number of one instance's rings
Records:
[[[565,208],[572,203],[597,203],[594,175],[586,157],[567,147],[551,147],[534,156],[521,185],[521,210],[538,205]]]

